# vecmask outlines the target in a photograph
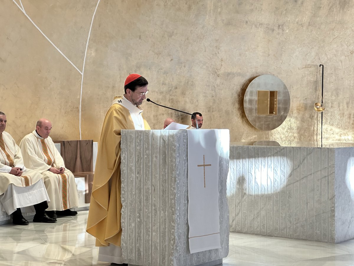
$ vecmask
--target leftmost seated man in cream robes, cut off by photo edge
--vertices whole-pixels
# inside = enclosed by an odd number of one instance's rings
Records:
[[[42,175],[28,169],[23,164],[20,148],[11,135],[5,132],[6,115],[0,112],[0,201],[2,211],[12,214],[12,223],[28,225],[20,208],[25,212],[36,211],[33,222],[55,223],[57,220],[48,217],[44,210],[49,201]]]

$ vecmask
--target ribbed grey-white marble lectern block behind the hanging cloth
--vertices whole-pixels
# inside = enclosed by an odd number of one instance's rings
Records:
[[[229,252],[229,131],[219,130],[221,249],[189,253],[187,131],[122,130],[122,261],[143,266],[218,265]]]

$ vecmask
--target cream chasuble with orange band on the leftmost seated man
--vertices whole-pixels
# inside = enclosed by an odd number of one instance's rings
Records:
[[[11,167],[22,168],[22,176],[10,174]],[[15,140],[7,132],[0,134],[0,195],[3,194],[8,185],[14,184],[17,187],[28,187],[42,179],[42,175],[23,164],[20,148]]]

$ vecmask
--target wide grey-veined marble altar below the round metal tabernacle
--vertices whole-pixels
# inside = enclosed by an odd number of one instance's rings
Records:
[[[353,239],[354,147],[230,145],[227,194],[232,232]]]

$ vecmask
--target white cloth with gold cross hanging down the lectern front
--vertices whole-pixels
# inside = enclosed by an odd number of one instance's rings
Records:
[[[221,248],[217,129],[188,130],[189,250]]]

